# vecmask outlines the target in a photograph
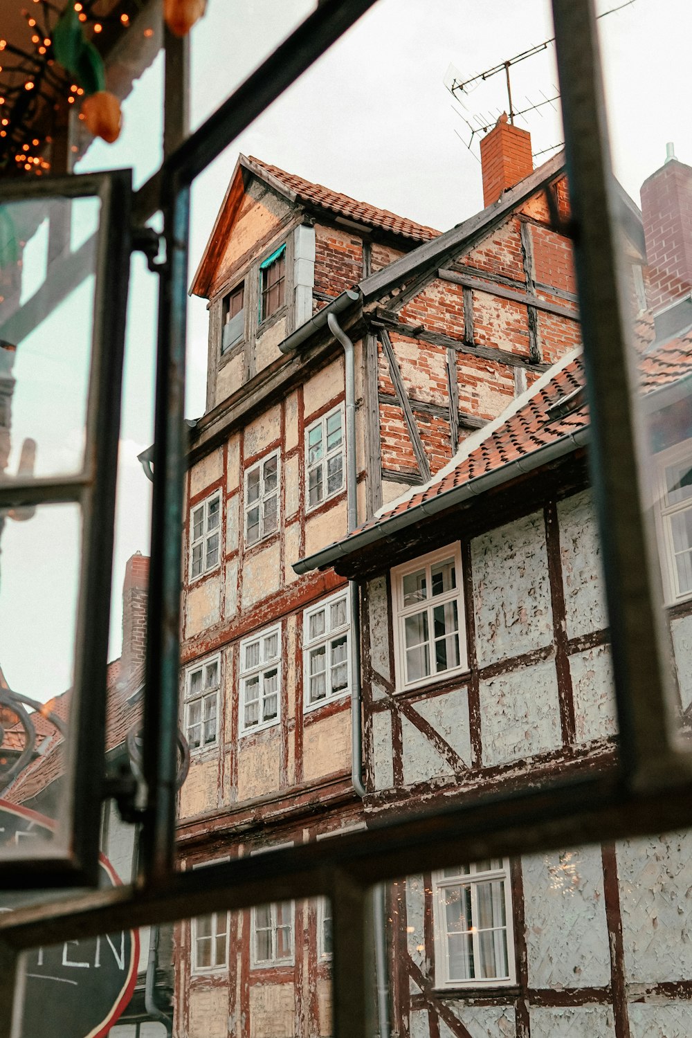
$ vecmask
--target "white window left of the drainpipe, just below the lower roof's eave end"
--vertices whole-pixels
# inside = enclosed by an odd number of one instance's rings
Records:
[[[345,695],[350,678],[349,590],[345,588],[303,613],[305,709]]]

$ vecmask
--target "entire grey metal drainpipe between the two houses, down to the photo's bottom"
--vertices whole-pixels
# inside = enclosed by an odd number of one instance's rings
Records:
[[[327,316],[327,325],[334,338],[343,347],[345,367],[345,439],[347,439],[347,504],[349,532],[358,525],[358,465],[356,462],[356,360],[354,345],[340,327],[334,313]],[[363,786],[362,689],[360,683],[360,612],[358,581],[349,581],[351,599],[351,782],[358,796],[365,796]],[[372,930],[375,938],[375,976],[377,984],[380,1038],[389,1038],[389,981],[387,971],[387,929],[385,886],[372,889]]]

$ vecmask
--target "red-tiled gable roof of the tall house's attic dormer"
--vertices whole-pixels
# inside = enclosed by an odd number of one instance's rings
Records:
[[[398,238],[408,239],[414,244],[427,242],[440,235],[440,231],[434,227],[427,227],[415,220],[397,216],[396,213],[392,213],[388,209],[380,209],[369,202],[358,201],[358,199],[342,194],[340,191],[332,191],[331,188],[327,188],[323,184],[314,184],[297,173],[288,173],[285,169],[264,162],[261,159],[240,155],[193,278],[190,288],[191,295],[206,297],[213,271],[221,260],[226,236],[240,209],[250,176],[256,176],[287,201],[323,211],[334,217],[337,222],[340,220],[347,225],[349,222],[361,224],[364,228],[386,231]]]

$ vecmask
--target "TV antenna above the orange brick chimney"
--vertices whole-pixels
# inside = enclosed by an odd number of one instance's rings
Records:
[[[604,10],[600,15],[597,15],[597,18],[601,19],[601,18],[606,18],[606,16],[608,15],[614,15],[615,11],[622,10],[625,7],[631,7],[633,3],[635,3],[635,0],[625,0],[624,3],[618,4],[616,7],[610,7],[608,10]],[[492,67],[486,69],[483,72],[476,73],[473,76],[469,76],[466,79],[464,79],[453,69],[453,66],[450,65],[449,69],[447,70],[447,74],[444,77],[445,86],[447,87],[451,95],[454,98],[454,100],[461,104],[462,108],[464,108],[468,112],[468,108],[464,103],[464,101],[462,100],[462,98],[468,97],[468,94],[471,93],[471,91],[474,90],[480,83],[485,83],[489,79],[492,79],[494,76],[498,76],[504,73],[505,87],[507,91],[506,114],[508,115],[509,121],[513,125],[516,118],[528,115],[529,112],[537,112],[538,115],[543,116],[543,112],[541,111],[541,109],[544,108],[546,105],[549,105],[554,111],[557,111],[555,107],[555,102],[559,101],[560,92],[554,83],[551,84],[551,93],[552,93],[551,97],[548,97],[543,90],[539,90],[538,92],[543,95],[542,100],[533,102],[527,95],[526,97],[527,105],[525,106],[522,105],[519,108],[516,107],[515,99],[511,93],[511,76],[509,72],[510,69],[513,69],[517,64],[520,64],[522,61],[527,61],[529,58],[535,57],[536,55],[544,53],[554,43],[555,43],[555,37],[550,36],[548,39],[544,39],[539,44],[534,44],[533,47],[529,47],[527,48],[527,50],[521,51],[521,53],[515,54],[513,57],[506,58],[506,60],[500,61],[498,62],[498,64],[492,65]],[[495,126],[499,115],[501,114],[501,111],[498,108],[497,110],[490,109],[485,114],[482,112],[469,114],[469,117],[467,118],[465,115],[462,114],[462,112],[459,111],[459,109],[454,108],[453,110],[464,120],[464,122],[466,122],[468,129],[471,132],[469,140],[464,141],[469,151],[471,151],[473,139],[476,136],[476,134],[488,133],[488,131]],[[462,140],[464,140],[464,138],[461,137],[461,134],[458,134],[458,136]],[[543,148],[541,153],[536,154],[545,154],[545,152],[553,151],[554,148],[559,146],[560,146],[559,144],[554,144],[551,147]]]

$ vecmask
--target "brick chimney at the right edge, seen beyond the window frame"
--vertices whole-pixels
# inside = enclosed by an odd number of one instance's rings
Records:
[[[664,164],[641,185],[649,305],[655,313],[680,303],[692,291],[692,167],[675,158],[672,144],[666,151]],[[681,321],[690,324],[692,304],[681,309],[689,312],[680,312],[674,320],[669,317],[668,324],[672,321],[679,328]]]

